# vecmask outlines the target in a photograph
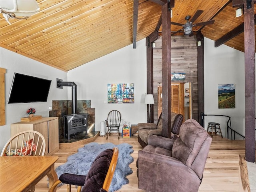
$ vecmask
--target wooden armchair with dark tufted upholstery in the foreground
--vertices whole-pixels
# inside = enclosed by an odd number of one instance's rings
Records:
[[[59,180],[54,182],[50,192],[61,182],[67,185],[67,192],[71,192],[71,185],[76,185],[77,192],[108,192],[116,164],[118,160],[118,148],[106,149],[101,152],[92,163],[87,176],[64,173]],[[82,188],[83,186],[83,188]]]

